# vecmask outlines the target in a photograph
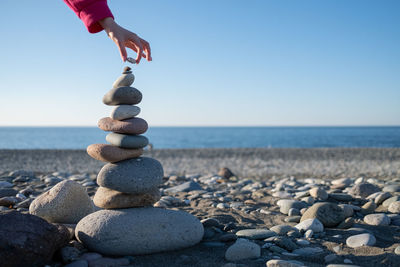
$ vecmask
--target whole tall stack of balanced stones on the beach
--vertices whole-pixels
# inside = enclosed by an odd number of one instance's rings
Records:
[[[106,255],[138,255],[176,250],[192,246],[203,237],[203,226],[193,215],[176,210],[153,207],[160,199],[162,183],[160,162],[142,157],[149,143],[141,135],[147,122],[136,117],[135,106],[142,94],[131,87],[135,76],[124,69],[104,95],[103,103],[115,106],[110,117],[98,126],[110,131],[109,144],[92,144],[88,154],[108,162],[98,173],[99,188],[93,198],[101,210],[79,221],[75,235],[91,251]]]

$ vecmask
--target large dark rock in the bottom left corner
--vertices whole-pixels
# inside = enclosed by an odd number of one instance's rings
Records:
[[[0,262],[8,266],[43,266],[68,237],[42,218],[16,211],[0,213]]]

